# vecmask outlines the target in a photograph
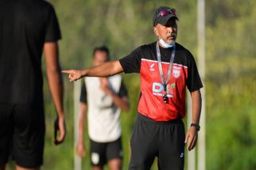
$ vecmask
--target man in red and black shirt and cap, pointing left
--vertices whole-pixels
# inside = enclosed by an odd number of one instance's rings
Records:
[[[70,81],[81,77],[108,77],[122,72],[141,75],[138,119],[130,140],[129,169],[150,169],[158,157],[159,169],[184,169],[184,142],[196,146],[200,130],[203,87],[190,51],[176,43],[176,10],[161,6],[153,13],[156,42],[142,45],[130,55],[85,70],[64,70]],[[192,124],[185,136],[185,89],[192,96]]]

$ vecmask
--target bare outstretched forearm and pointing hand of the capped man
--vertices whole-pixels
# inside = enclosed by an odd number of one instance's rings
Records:
[[[123,72],[118,60],[105,62],[99,66],[93,66],[84,70],[63,70],[62,73],[68,74],[69,81],[76,81],[81,77],[109,77]]]

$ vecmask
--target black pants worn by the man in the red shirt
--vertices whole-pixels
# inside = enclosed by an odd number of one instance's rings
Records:
[[[158,169],[184,169],[184,123],[181,119],[155,122],[138,114],[130,139],[129,169],[149,170],[157,157]]]

